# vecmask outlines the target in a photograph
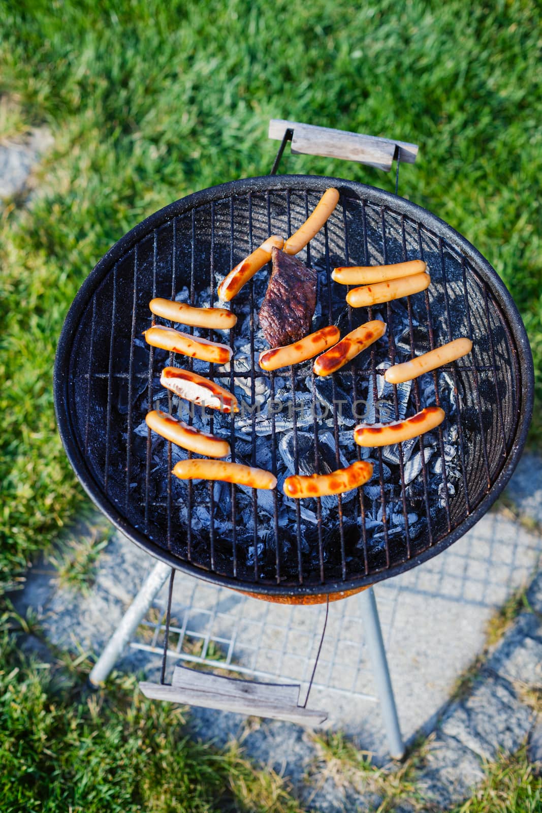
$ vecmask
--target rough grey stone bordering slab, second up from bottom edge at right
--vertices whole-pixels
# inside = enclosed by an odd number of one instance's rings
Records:
[[[444,715],[440,730],[491,761],[499,749],[518,750],[531,729],[532,716],[511,685],[483,671],[470,696]]]

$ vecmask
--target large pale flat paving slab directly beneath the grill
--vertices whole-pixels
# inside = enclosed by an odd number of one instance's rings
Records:
[[[489,514],[443,554],[376,585],[401,728],[407,740],[420,729],[429,733],[434,727],[457,677],[482,649],[488,620],[514,589],[527,583],[541,550],[538,535],[501,515]],[[41,593],[40,601],[46,603],[44,624],[48,636],[59,646],[102,650],[153,565],[154,560],[147,554],[115,534],[102,555],[89,598],[56,589],[44,602]],[[27,595],[37,585],[43,591],[44,578],[50,580],[52,574],[31,575]],[[228,601],[234,604],[236,594],[226,592]],[[214,601],[212,594],[209,601]],[[355,606],[356,601],[352,597],[330,605],[330,620],[334,613],[344,611],[347,602]],[[263,602],[255,604],[257,608],[269,607]],[[314,613],[321,615],[323,608],[301,611],[312,619]],[[318,615],[316,622],[311,620],[311,626],[319,630]],[[361,628],[359,638],[361,646]],[[328,640],[327,645],[330,643]],[[132,669],[145,666],[150,670],[158,667],[159,660],[158,655],[149,658],[131,651],[119,665]],[[374,679],[366,662],[363,676],[367,693],[374,695]],[[310,702],[311,706],[320,704],[331,709],[332,728],[345,730],[359,747],[371,750],[380,762],[386,759],[378,704],[316,689]],[[239,715],[195,712],[194,725],[202,736],[216,741],[239,736],[243,731]]]

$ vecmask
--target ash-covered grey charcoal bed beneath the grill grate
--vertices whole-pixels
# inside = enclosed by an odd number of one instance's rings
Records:
[[[318,263],[316,263],[318,265]],[[258,282],[265,289],[265,280]],[[324,327],[332,321],[340,326],[341,333],[358,324],[349,321],[348,311],[344,305],[344,293],[336,290],[332,293],[334,319],[330,320],[327,311],[327,291],[325,286],[320,290],[319,302],[313,320],[313,330]],[[259,291],[259,288],[258,288]],[[259,293],[254,293],[254,302],[259,302]],[[176,295],[176,301],[189,302],[188,287],[181,289]],[[415,302],[415,298],[413,299]],[[240,304],[241,303],[241,304]],[[319,463],[320,473],[327,473],[334,467],[346,467],[356,459],[368,459],[373,463],[374,471],[371,480],[362,488],[363,516],[360,510],[358,492],[352,491],[342,495],[345,506],[345,528],[352,525],[358,528],[358,554],[351,551],[350,559],[356,559],[362,550],[362,533],[366,537],[367,551],[382,550],[387,533],[389,539],[405,537],[405,515],[403,511],[403,497],[406,502],[406,523],[408,524],[410,539],[415,540],[427,526],[425,506],[422,448],[426,463],[428,480],[428,500],[431,506],[431,521],[437,511],[442,511],[446,502],[444,493],[443,469],[446,467],[448,498],[451,500],[456,490],[460,488],[461,466],[457,454],[457,406],[462,399],[461,387],[455,389],[453,376],[447,371],[437,371],[438,400],[446,412],[446,421],[442,428],[427,433],[423,442],[419,438],[405,441],[401,444],[402,463],[404,469],[404,493],[400,476],[400,446],[384,446],[381,450],[358,448],[353,442],[352,429],[360,421],[376,423],[379,421],[402,420],[407,415],[413,415],[418,408],[433,406],[437,402],[435,391],[435,375],[427,373],[417,382],[389,385],[384,379],[384,372],[390,366],[389,358],[390,337],[385,336],[375,343],[370,350],[361,354],[354,363],[347,365],[336,373],[334,382],[331,379],[311,376],[311,362],[296,367],[297,389],[295,405],[292,395],[292,383],[289,368],[269,375],[263,373],[258,366],[258,355],[267,349],[267,343],[258,329],[258,307],[254,314],[249,313],[249,298],[240,297],[240,303],[233,303],[232,310],[236,311],[238,321],[232,333],[216,333],[215,341],[231,343],[235,354],[231,361],[222,367],[215,365],[213,371],[217,383],[230,388],[230,373],[234,372],[234,392],[239,401],[241,412],[232,417],[219,411],[195,410],[176,396],[160,387],[158,376],[160,366],[169,363],[168,354],[154,350],[153,371],[153,403],[150,408],[160,408],[168,411],[171,402],[171,411],[181,420],[191,422],[194,427],[206,432],[212,431],[228,440],[235,435],[235,459],[237,462],[253,465],[271,470],[274,467],[278,480],[276,496],[272,492],[258,491],[256,494],[257,516],[254,516],[254,495],[252,489],[229,484],[215,483],[211,487],[208,483],[194,481],[190,486],[192,493],[190,522],[194,533],[206,532],[210,523],[210,494],[214,498],[215,539],[223,537],[232,538],[232,492],[236,500],[236,539],[238,547],[244,547],[245,563],[254,564],[255,553],[258,563],[262,563],[266,555],[274,560],[272,549],[275,546],[274,517],[275,503],[278,510],[278,524],[281,533],[281,552],[286,557],[290,547],[295,549],[292,542],[292,533],[296,533],[297,507],[301,514],[301,539],[304,555],[318,559],[318,547],[314,548],[314,536],[319,532],[319,511],[322,518],[321,533],[333,531],[338,526],[338,498],[324,497],[318,510],[314,499],[303,500],[301,505],[286,498],[282,492],[282,485],[286,476],[297,469],[301,474],[312,474],[316,470],[314,460],[314,424],[319,431]],[[193,304],[198,307],[208,307],[209,293],[205,289],[197,292]],[[213,302],[215,306],[221,304]],[[408,311],[401,302],[392,302],[392,339],[395,343],[395,363],[410,359],[410,329],[414,336],[416,354],[429,349],[429,335],[427,329],[427,316],[422,305],[418,312],[413,310],[412,328],[410,328]],[[373,319],[387,321],[387,308],[375,308]],[[359,319],[358,319],[359,321]],[[248,337],[251,324],[254,325],[254,342],[251,345]],[[389,331],[388,326],[388,331]],[[213,333],[194,330],[196,335],[213,339]],[[222,336],[223,334],[223,336]],[[135,342],[137,361],[136,367],[146,369],[148,366],[148,347],[145,342],[137,338]],[[376,374],[365,372],[371,367],[371,353],[375,354]],[[145,355],[145,359],[140,359]],[[194,372],[203,376],[209,375],[209,364],[178,357],[176,363],[181,367],[191,366]],[[254,373],[253,373],[254,371]],[[364,371],[364,372],[357,372]],[[313,394],[314,381],[314,394]],[[272,382],[272,383],[271,383]],[[148,429],[144,419],[145,411],[149,408],[146,402],[145,390],[148,380],[145,377],[135,378],[132,381],[132,394],[134,407],[137,409],[137,427],[134,430],[132,451],[141,464],[146,463]],[[124,392],[123,383],[119,390]],[[355,397],[354,397],[355,392]],[[397,407],[396,407],[397,393]],[[274,394],[274,399],[271,398]],[[116,393],[115,393],[116,396]],[[419,402],[418,402],[419,396]],[[170,401],[171,398],[171,401]],[[122,402],[119,396],[115,402],[119,411],[128,411],[128,404]],[[336,418],[332,407],[336,406]],[[295,460],[293,449],[293,427],[295,409],[295,423],[297,425],[297,446],[299,458]],[[212,412],[212,414],[211,414]],[[275,454],[271,450],[271,434],[275,432]],[[254,437],[255,436],[255,437]],[[338,463],[336,441],[338,437]],[[254,441],[254,454],[253,454]],[[442,446],[441,446],[442,441]],[[154,489],[152,497],[156,500],[165,500],[167,497],[168,479],[168,444],[163,439],[151,433],[151,472]],[[441,448],[444,449],[444,461],[441,457]],[[171,446],[171,463],[186,459],[188,453],[178,447]],[[226,458],[226,460],[232,457]],[[175,480],[175,478],[174,478]],[[181,518],[187,514],[189,485],[185,481],[176,481],[174,498],[180,511]],[[385,524],[382,493],[385,499]],[[183,513],[184,511],[184,513]],[[254,522],[258,522],[258,550],[254,551]],[[335,539],[336,537],[330,537]],[[312,550],[314,548],[314,550]],[[271,555],[272,554],[272,555]],[[314,554],[314,556],[313,556]],[[336,543],[324,550],[324,559],[335,557]]]

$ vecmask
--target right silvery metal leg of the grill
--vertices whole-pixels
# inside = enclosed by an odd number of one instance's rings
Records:
[[[392,680],[389,676],[388,660],[384,649],[384,639],[380,628],[379,613],[376,606],[375,593],[370,587],[358,595],[365,628],[367,646],[373,672],[375,672],[376,691],[379,696],[384,728],[388,737],[388,749],[393,759],[401,759],[405,754],[405,743],[401,737],[397,706],[393,697]]]

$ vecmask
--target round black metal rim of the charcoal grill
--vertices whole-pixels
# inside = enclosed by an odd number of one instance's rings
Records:
[[[321,583],[281,585],[276,583],[261,583],[254,580],[245,581],[233,576],[223,576],[219,573],[206,570],[206,568],[198,566],[195,563],[183,561],[158,546],[158,544],[150,540],[145,533],[141,533],[140,530],[128,522],[128,520],[121,515],[115,503],[106,497],[106,493],[94,478],[93,473],[85,462],[84,454],[76,442],[76,432],[68,409],[68,383],[73,341],[76,337],[77,329],[79,328],[80,317],[83,315],[90,299],[93,297],[93,294],[96,293],[98,286],[102,283],[106,274],[111,271],[119,259],[122,259],[125,254],[128,254],[137,243],[152,233],[155,228],[160,228],[167,222],[174,220],[177,216],[185,215],[197,207],[230,196],[247,194],[249,192],[266,193],[274,189],[280,191],[301,189],[309,192],[323,192],[330,186],[335,186],[339,189],[341,194],[345,193],[349,195],[349,197],[371,202],[371,205],[389,207],[393,213],[405,215],[405,217],[423,225],[423,228],[427,229],[428,232],[435,234],[436,237],[443,238],[449,242],[449,245],[453,246],[455,250],[464,254],[466,259],[473,264],[476,273],[479,274],[483,282],[489,286],[492,295],[496,298],[497,304],[501,307],[502,311],[504,311],[510,332],[514,337],[516,349],[518,350],[518,370],[521,385],[518,388],[518,424],[514,441],[501,472],[475,510],[471,511],[451,533],[448,533],[435,545],[427,547],[426,550],[423,550],[422,553],[411,559],[405,559],[402,562],[395,563],[391,567],[384,568],[379,572],[360,575],[355,579],[349,578],[339,581],[330,581],[324,585]],[[531,346],[529,345],[527,332],[514,299],[511,297],[508,289],[492,265],[488,263],[488,260],[480,254],[475,246],[466,240],[466,237],[463,237],[452,226],[447,224],[444,220],[441,220],[438,215],[418,206],[416,203],[405,200],[405,198],[387,192],[384,189],[361,184],[358,183],[358,181],[346,180],[344,178],[308,175],[255,176],[232,180],[224,184],[209,187],[208,189],[202,189],[184,198],[180,198],[154,212],[154,214],[142,220],[141,223],[124,234],[124,236],[104,254],[76,293],[76,297],[67,312],[66,320],[64,321],[63,329],[59,337],[59,345],[54,362],[53,383],[54,410],[67,459],[71,463],[77,479],[80,481],[86,493],[88,493],[94,504],[106,515],[116,528],[119,528],[131,541],[151,554],[155,559],[177,570],[210,581],[213,584],[219,584],[232,589],[249,590],[253,593],[261,593],[262,595],[286,597],[341,593],[349,589],[375,584],[377,581],[390,578],[391,576],[397,576],[402,572],[410,570],[410,568],[416,567],[418,564],[427,561],[427,559],[431,559],[433,556],[436,556],[453,545],[453,542],[457,541],[470,530],[489,510],[496,501],[496,498],[498,498],[503,489],[505,489],[505,485],[512,476],[527,439],[527,432],[531,423],[535,388]]]

